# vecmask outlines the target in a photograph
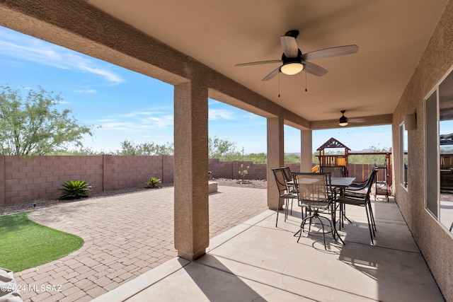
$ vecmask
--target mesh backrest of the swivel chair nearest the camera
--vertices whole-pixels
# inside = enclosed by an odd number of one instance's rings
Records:
[[[297,194],[305,204],[331,202],[330,173],[292,173],[297,182]]]

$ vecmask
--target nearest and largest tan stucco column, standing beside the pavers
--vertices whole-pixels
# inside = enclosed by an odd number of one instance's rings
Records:
[[[209,245],[207,88],[195,81],[175,86],[175,248],[195,260]]]

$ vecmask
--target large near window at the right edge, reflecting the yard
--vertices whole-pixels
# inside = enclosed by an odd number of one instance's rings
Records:
[[[425,100],[426,208],[453,228],[453,71]]]

